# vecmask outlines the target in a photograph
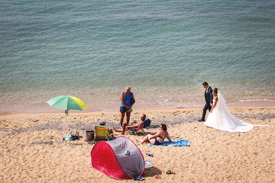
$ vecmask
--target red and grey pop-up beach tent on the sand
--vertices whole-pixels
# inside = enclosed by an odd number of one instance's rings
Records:
[[[129,153],[125,154],[128,150]],[[92,167],[118,180],[140,176],[145,168],[138,147],[124,136],[111,141],[99,141],[91,151]]]

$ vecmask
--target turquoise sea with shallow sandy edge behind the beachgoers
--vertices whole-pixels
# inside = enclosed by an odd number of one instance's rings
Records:
[[[207,81],[228,103],[275,100],[275,1],[9,0],[0,6],[0,114],[204,104]],[[77,111],[79,112],[79,111]]]

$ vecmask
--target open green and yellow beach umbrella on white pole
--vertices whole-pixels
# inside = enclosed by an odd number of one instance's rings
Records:
[[[66,117],[68,115],[69,110],[83,110],[89,107],[82,100],[72,96],[60,95],[53,99],[50,99],[46,103],[50,104],[51,107],[57,107],[61,109],[65,109],[65,123],[64,123],[64,132],[63,132],[63,140],[65,135],[65,125],[66,125]]]

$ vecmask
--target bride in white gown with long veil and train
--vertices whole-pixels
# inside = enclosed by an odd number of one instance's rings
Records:
[[[215,88],[212,93],[214,104],[207,120],[204,122],[207,127],[229,132],[247,132],[251,131],[254,126],[270,127],[269,125],[253,125],[239,120],[231,114],[218,88]]]

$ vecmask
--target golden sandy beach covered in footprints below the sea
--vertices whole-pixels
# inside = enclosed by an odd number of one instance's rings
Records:
[[[171,139],[191,141],[185,147],[158,147],[137,143],[144,134],[126,135],[154,167],[146,168],[144,182],[275,182],[275,107],[230,108],[234,116],[255,127],[246,133],[218,131],[197,119],[201,109],[134,110],[152,123],[146,134],[167,124]],[[208,113],[207,113],[208,114]],[[95,124],[119,126],[119,112],[70,113],[65,134],[79,131],[82,137],[62,141],[64,114],[13,114],[1,116],[0,182],[133,182],[119,181],[91,167],[90,152],[98,142],[86,141],[85,131]],[[115,132],[118,136],[118,132]],[[153,157],[146,153],[152,152]],[[173,174],[163,171],[172,167]],[[157,180],[155,175],[163,179]]]

